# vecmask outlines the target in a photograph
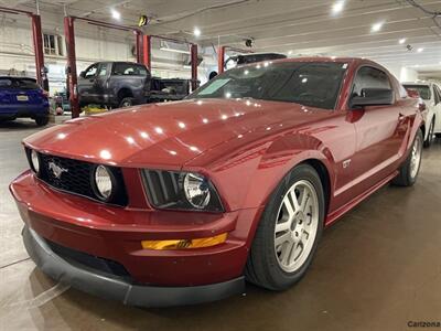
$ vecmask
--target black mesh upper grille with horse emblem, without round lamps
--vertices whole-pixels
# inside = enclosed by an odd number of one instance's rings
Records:
[[[29,154],[30,151],[28,151]],[[99,201],[93,186],[93,175],[97,164],[45,153],[39,153],[39,179],[54,189]],[[62,171],[58,177],[55,175],[54,166]],[[128,199],[121,169],[117,167],[107,168],[114,174],[116,182],[116,194],[108,203],[125,206]]]

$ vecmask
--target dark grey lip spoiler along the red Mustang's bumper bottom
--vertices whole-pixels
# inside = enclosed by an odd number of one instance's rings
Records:
[[[220,300],[245,289],[244,277],[192,287],[154,287],[131,284],[73,265],[57,256],[33,229],[24,226],[24,246],[39,266],[51,278],[82,291],[129,306],[168,307],[196,305]]]

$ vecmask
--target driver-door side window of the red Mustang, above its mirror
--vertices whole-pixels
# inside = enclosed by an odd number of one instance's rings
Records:
[[[385,72],[370,66],[364,66],[358,70],[354,78],[352,94],[362,96],[364,88],[389,88],[391,84]]]

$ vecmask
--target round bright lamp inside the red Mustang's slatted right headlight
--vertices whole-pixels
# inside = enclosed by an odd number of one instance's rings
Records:
[[[209,202],[208,181],[198,174],[187,173],[184,177],[185,197],[192,206],[203,210]]]

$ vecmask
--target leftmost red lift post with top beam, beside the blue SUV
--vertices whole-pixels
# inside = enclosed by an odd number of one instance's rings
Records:
[[[49,90],[46,71],[44,67],[43,34],[42,34],[40,14],[39,13],[34,14],[31,11],[24,11],[6,7],[0,7],[0,12],[11,13],[11,14],[25,14],[31,18],[32,41],[33,41],[34,56],[35,56],[36,82],[44,89]]]

